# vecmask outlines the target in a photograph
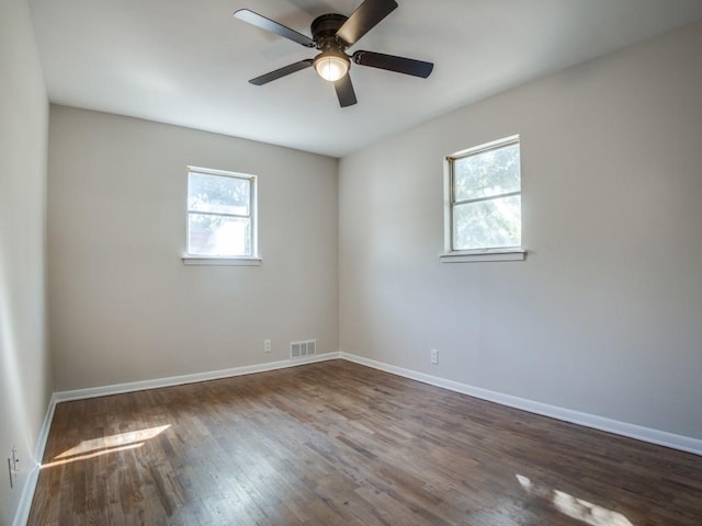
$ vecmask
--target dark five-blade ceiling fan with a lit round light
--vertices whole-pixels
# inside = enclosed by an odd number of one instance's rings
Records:
[[[346,53],[348,47],[361,39],[396,8],[395,0],[365,0],[351,16],[337,13],[322,14],[317,16],[310,25],[312,38],[248,9],[236,11],[234,16],[244,22],[275,33],[305,47],[316,47],[321,52],[315,58],[291,64],[251,79],[249,82],[263,85],[296,71],[314,67],[322,79],[333,82],[339,104],[341,107],[346,107],[356,103],[353,84],[349,77],[351,61],[359,66],[370,66],[426,79],[434,67],[432,62],[374,52],[359,50],[353,55]]]

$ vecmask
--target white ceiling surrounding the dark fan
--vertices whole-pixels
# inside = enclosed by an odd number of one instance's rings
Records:
[[[339,107],[313,69],[247,81],[312,58],[231,13],[301,33],[360,0],[30,0],[52,102],[342,157],[531,79],[702,19],[702,0],[397,0],[350,48],[433,61],[429,79],[362,66]]]

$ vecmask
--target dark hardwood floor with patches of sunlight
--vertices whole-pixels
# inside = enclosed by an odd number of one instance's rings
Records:
[[[695,525],[702,457],[343,361],[60,403],[32,525]]]

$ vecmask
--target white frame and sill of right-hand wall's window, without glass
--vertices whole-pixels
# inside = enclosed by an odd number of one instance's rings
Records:
[[[465,159],[466,157],[476,156],[486,151],[505,148],[508,146],[518,145],[520,148],[520,184],[519,192],[510,192],[506,194],[499,194],[490,196],[489,199],[505,197],[509,195],[520,196],[520,210],[521,197],[522,197],[522,171],[521,171],[521,138],[519,135],[512,135],[502,139],[485,142],[465,150],[456,151],[444,157],[443,161],[443,193],[444,193],[444,252],[440,254],[441,261],[444,263],[469,263],[480,261],[522,261],[525,259],[526,251],[523,248],[523,238],[520,236],[520,245],[518,247],[500,247],[500,248],[477,248],[468,250],[455,250],[454,249],[454,228],[453,228],[453,215],[454,207],[471,203],[473,201],[487,201],[485,198],[479,199],[466,199],[460,203],[455,202],[455,184],[454,184],[454,161]],[[523,225],[523,221],[522,221]]]

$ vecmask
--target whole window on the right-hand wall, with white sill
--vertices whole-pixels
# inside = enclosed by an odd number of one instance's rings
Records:
[[[523,259],[519,153],[513,136],[446,157],[445,256]]]

